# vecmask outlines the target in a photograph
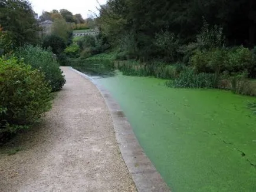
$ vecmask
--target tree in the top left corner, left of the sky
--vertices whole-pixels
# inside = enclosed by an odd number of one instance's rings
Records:
[[[39,26],[31,4],[25,0],[0,1],[0,24],[14,47],[36,44]]]

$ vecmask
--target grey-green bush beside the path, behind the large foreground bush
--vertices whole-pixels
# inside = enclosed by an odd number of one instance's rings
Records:
[[[45,51],[41,47],[28,45],[20,48],[16,54],[19,58],[24,59],[25,64],[44,72],[45,80],[50,84],[52,91],[61,90],[65,84],[65,78],[60,65],[52,57],[52,52]]]

